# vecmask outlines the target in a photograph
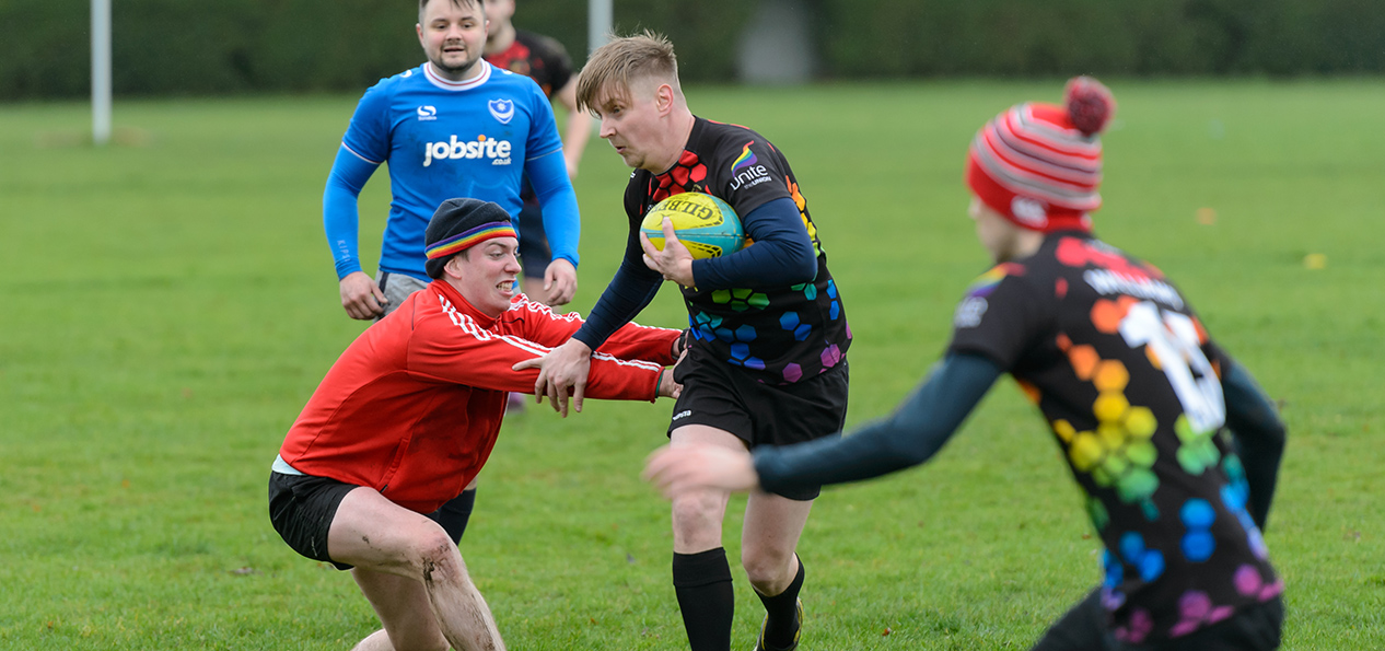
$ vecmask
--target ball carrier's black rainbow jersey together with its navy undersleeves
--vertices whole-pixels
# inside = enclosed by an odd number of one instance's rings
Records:
[[[688,355],[742,367],[773,385],[817,377],[841,364],[850,327],[788,161],[759,133],[702,118],[697,118],[673,168],[661,175],[636,169],[630,176],[625,260],[573,337],[594,349],[658,292],[663,278],[643,262],[640,223],[654,204],[679,193],[722,198],[740,215],[749,240],[776,242],[692,262],[697,287],[683,288],[692,338]],[[806,245],[810,256],[794,255],[795,247]],[[785,278],[812,274],[812,269],[802,273],[789,262],[806,259],[816,259],[813,280],[787,284]]]

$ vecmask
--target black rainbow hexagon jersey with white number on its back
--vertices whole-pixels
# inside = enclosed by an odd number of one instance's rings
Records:
[[[1087,234],[968,288],[951,352],[1010,371],[1053,427],[1105,543],[1120,641],[1179,637],[1283,591],[1224,432],[1224,355],[1154,266]]]

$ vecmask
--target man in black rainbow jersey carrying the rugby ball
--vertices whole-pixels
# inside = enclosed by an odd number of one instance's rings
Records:
[[[852,334],[827,270],[817,229],[784,155],[744,126],[694,116],[662,36],[616,39],[594,51],[578,102],[601,119],[601,137],[634,168],[625,193],[625,260],[586,326],[542,362],[536,393],[580,409],[591,355],[654,299],[663,280],[683,285],[687,359],[674,380],[674,446],[773,447],[837,432],[846,416]],[[645,212],[679,193],[726,201],[753,240],[735,253],[694,260],[663,222],[666,244],[640,234]],[[798,645],[803,564],[795,554],[817,486],[755,493],[745,508],[741,564],[765,604],[756,648]],[[729,493],[673,501],[673,586],[694,651],[730,647],[734,591],[722,547]]]

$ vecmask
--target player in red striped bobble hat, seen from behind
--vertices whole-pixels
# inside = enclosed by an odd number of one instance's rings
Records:
[[[893,416],[753,454],[663,449],[647,475],[668,494],[879,476],[932,457],[1010,373],[1105,544],[1101,586],[1033,648],[1277,648],[1284,585],[1260,530],[1284,424],[1158,269],[1091,234],[1114,112],[1105,86],[1078,78],[1064,105],[1019,104],[976,134],[970,212],[997,266],[967,289],[947,353]]]

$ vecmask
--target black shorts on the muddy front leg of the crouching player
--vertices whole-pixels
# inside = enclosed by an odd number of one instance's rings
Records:
[[[327,530],[346,493],[360,486],[325,476],[269,474],[269,521],[294,551],[337,569],[350,569],[327,555]]]

